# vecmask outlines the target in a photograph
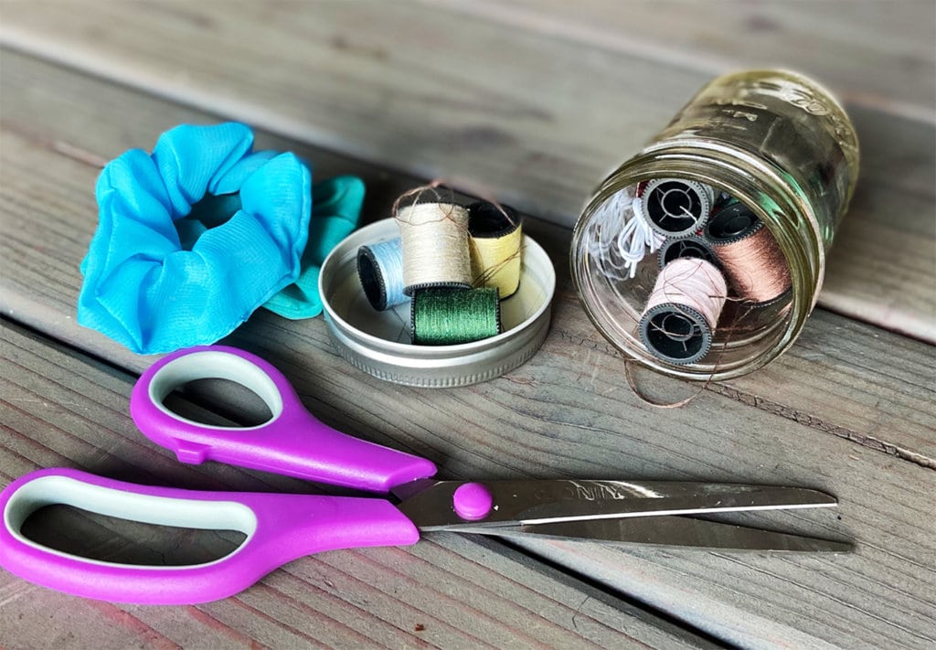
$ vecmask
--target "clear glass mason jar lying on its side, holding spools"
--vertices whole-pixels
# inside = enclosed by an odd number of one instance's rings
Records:
[[[612,171],[586,204],[571,249],[581,303],[615,347],[666,375],[720,380],[749,373],[790,347],[812,312],[857,173],[855,127],[817,83],[780,70],[718,77],[643,151]],[[649,254],[654,246],[633,271],[621,273],[615,259],[621,246],[609,244],[627,222],[616,206],[628,205],[648,184],[660,186],[661,179],[705,187],[713,202],[737,199],[768,229],[788,273],[788,290],[776,300],[752,303],[729,293],[700,350],[704,356],[687,355],[691,362],[661,358],[641,338],[641,318],[664,266]],[[776,277],[778,270],[764,267],[764,273]]]

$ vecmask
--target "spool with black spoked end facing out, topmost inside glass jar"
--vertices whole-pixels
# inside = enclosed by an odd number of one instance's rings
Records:
[[[647,184],[641,199],[651,229],[665,237],[688,237],[709,218],[715,190],[696,181],[659,178]]]

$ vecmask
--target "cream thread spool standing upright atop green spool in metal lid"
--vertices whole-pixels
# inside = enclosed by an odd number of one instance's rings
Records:
[[[416,203],[396,214],[403,256],[403,292],[470,288],[468,211],[453,203]]]

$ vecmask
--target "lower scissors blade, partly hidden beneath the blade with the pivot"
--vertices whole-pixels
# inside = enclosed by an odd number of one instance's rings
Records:
[[[502,532],[503,531],[503,532]],[[530,524],[506,528],[461,529],[482,535],[519,535],[549,539],[612,541],[625,544],[652,544],[733,551],[789,551],[851,553],[854,546],[832,539],[818,539],[775,533],[735,524],[720,524],[692,517],[651,517],[649,519],[598,519],[555,524]]]

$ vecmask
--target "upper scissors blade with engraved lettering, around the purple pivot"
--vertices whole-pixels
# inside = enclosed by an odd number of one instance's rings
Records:
[[[422,530],[460,527],[699,514],[737,510],[821,508],[835,497],[816,490],[737,483],[663,480],[474,481],[491,496],[490,510],[466,521],[453,508],[455,492],[469,481],[438,480],[418,486],[400,510]]]

